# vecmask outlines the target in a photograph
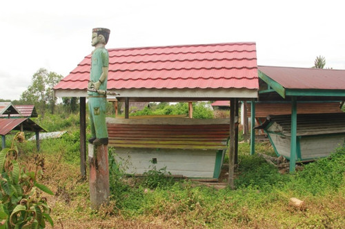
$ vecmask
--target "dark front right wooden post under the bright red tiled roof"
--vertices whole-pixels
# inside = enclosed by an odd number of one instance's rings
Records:
[[[237,99],[230,99],[230,139],[229,139],[229,177],[228,185],[234,189],[235,175],[235,102]]]

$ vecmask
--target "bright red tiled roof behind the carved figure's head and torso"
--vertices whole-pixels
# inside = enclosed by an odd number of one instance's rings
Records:
[[[255,43],[108,49],[108,90],[248,88],[258,90]],[[86,90],[91,54],[55,90]]]

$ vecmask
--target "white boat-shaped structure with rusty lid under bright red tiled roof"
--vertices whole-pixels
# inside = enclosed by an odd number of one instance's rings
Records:
[[[229,119],[108,118],[109,146],[128,174],[155,166],[171,175],[219,177],[228,148]]]

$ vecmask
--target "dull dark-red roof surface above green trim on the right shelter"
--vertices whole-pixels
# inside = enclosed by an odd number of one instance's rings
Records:
[[[345,70],[273,66],[257,68],[284,88],[345,90]]]

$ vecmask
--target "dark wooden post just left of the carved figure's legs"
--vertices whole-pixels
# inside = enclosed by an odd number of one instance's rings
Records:
[[[80,97],[79,131],[80,131],[80,173],[86,179],[86,97]]]

